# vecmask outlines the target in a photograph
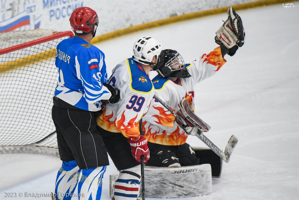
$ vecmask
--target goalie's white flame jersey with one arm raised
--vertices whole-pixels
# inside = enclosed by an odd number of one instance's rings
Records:
[[[203,54],[192,63],[186,64],[191,75],[189,78],[178,78],[177,81],[173,81],[157,75],[152,79],[155,95],[174,110],[179,110],[178,104],[185,97],[194,112],[193,99],[196,84],[214,75],[225,62],[218,47],[208,55]],[[150,108],[143,119],[144,135],[148,142],[162,145],[181,145],[186,142],[188,134],[174,121],[175,116],[157,100],[152,99]]]

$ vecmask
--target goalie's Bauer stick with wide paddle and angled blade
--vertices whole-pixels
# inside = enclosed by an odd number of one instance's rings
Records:
[[[187,125],[184,119],[179,116],[176,111],[170,108],[164,101],[162,101],[157,95],[154,95],[154,98],[159,101],[167,110],[169,110],[178,120],[180,120],[184,125]],[[199,128],[199,127],[198,127]],[[200,130],[200,129],[199,129]],[[200,130],[202,131],[202,130]],[[204,130],[203,130],[204,131]],[[206,130],[205,132],[207,132]],[[228,140],[228,143],[225,146],[224,152],[222,152],[213,142],[211,142],[204,134],[196,134],[202,142],[204,142],[215,154],[217,154],[222,160],[228,163],[231,154],[238,143],[238,139],[236,136],[232,135],[231,138]]]

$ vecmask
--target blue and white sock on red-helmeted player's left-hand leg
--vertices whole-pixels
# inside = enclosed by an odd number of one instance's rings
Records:
[[[75,160],[62,162],[55,184],[55,196],[57,199],[71,199],[79,178],[78,170],[79,167]]]

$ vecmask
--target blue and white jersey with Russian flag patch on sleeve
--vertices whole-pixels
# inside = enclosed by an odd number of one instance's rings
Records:
[[[56,49],[59,78],[55,96],[83,110],[101,110],[100,100],[109,99],[105,55],[85,40],[62,40]]]

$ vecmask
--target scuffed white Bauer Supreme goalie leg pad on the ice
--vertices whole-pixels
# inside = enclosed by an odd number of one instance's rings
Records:
[[[185,167],[146,166],[144,177],[147,197],[192,197],[212,192],[210,164]]]

